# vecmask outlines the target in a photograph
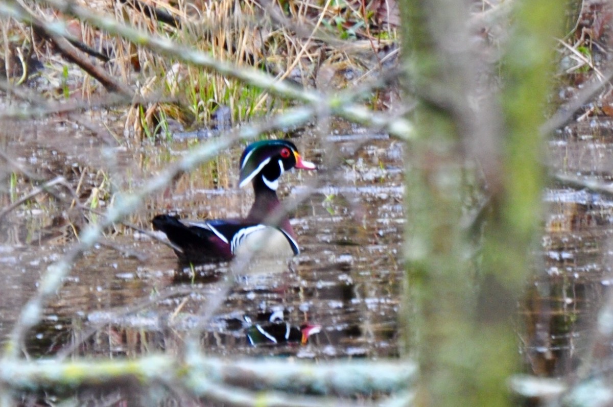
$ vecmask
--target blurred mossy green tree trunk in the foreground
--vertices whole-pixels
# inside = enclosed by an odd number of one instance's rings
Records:
[[[512,3],[495,94],[466,3],[400,6],[405,86],[419,102],[411,116],[419,137],[406,156],[404,314],[406,350],[421,368],[419,406],[510,404],[506,379],[519,359],[512,321],[541,219],[539,126],[564,4]],[[485,204],[473,215],[479,196],[470,191],[481,181]]]

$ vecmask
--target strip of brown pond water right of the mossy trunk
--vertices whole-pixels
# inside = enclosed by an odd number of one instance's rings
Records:
[[[598,120],[566,127],[550,142],[550,167],[563,174],[611,180],[611,142],[604,139],[610,132]],[[520,349],[527,371],[565,376],[593,346],[598,310],[610,293],[613,200],[566,186],[550,188],[544,200],[543,251],[520,308],[526,323]]]

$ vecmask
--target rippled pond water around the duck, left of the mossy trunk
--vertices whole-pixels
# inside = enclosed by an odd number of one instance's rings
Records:
[[[75,264],[49,304],[44,321],[29,335],[28,352],[134,355],[172,351],[180,349],[186,333],[202,329],[203,346],[221,355],[397,355],[402,145],[380,134],[335,136],[327,142],[345,156],[340,164],[330,164],[324,161],[324,147],[316,137],[305,134],[294,141],[305,158],[319,160],[322,181],[313,187],[313,174],[294,171],[281,182],[282,197],[313,191],[295,210],[292,226],[302,253],[285,272],[230,276],[227,265],[179,269],[172,249],[118,226]],[[29,161],[34,157],[36,162],[45,162],[40,165],[45,175],[68,165],[71,171],[63,170],[64,177],[72,185],[80,183],[80,199],[91,204],[97,194],[99,207],[104,209],[114,188],[138,188],[145,177],[189,150],[191,143],[148,146],[136,158],[121,151],[109,161],[112,165],[97,163],[104,176],[79,164],[87,151],[70,144],[53,150],[32,150],[36,143],[15,143],[10,148]],[[237,188],[241,152],[242,146],[236,146],[199,170],[182,175],[151,197],[129,221],[150,229],[149,219],[163,211],[189,218],[246,215],[253,192]],[[330,173],[333,177],[326,178]],[[28,184],[20,188],[23,194]],[[6,284],[0,287],[3,338],[17,311],[33,295],[42,270],[61,257],[78,232],[66,204],[53,199],[33,202],[30,210],[20,208],[6,220],[2,229],[11,230],[13,238],[0,249],[0,264],[10,270]],[[41,238],[40,230],[53,238]],[[228,280],[225,300],[213,318],[205,319],[208,301],[223,292]],[[250,329],[278,329],[266,318],[273,311],[281,313],[283,324],[289,327],[321,325],[321,332],[311,335],[304,346],[300,341],[281,340],[275,346],[253,346],[247,335]]]

